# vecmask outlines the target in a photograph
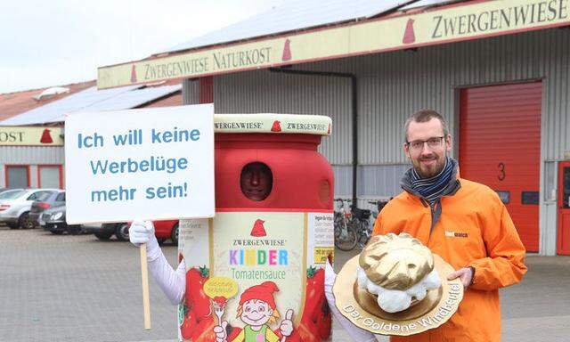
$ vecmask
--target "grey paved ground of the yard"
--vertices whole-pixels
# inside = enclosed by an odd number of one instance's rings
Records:
[[[164,249],[174,263],[175,247]],[[353,254],[338,252],[337,268]],[[127,242],[0,227],[0,340],[175,340],[175,306],[152,280],[152,330],[142,330],[138,256]],[[503,341],[568,341],[570,257],[527,264],[525,281],[501,293]]]

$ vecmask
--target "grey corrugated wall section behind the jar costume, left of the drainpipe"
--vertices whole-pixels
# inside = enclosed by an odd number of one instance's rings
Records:
[[[351,86],[346,77],[289,75],[256,70],[216,77],[216,113],[294,113],[332,118],[320,151],[334,165],[352,163]]]

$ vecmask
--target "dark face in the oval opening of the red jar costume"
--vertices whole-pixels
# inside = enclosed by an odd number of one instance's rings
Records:
[[[266,199],[273,188],[271,169],[264,163],[249,163],[241,169],[240,187],[248,199],[255,201]]]

